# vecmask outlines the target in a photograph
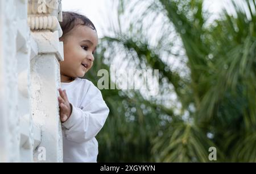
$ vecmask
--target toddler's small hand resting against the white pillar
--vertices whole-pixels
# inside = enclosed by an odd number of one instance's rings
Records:
[[[72,106],[68,101],[66,90],[59,89],[60,96],[58,97],[60,105],[60,120],[61,122],[67,121],[72,113]]]

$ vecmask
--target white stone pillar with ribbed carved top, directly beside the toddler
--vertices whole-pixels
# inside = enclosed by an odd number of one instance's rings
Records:
[[[60,88],[59,61],[63,60],[61,1],[28,1],[28,24],[38,46],[31,60],[32,117],[42,131],[41,143],[34,151],[38,162],[63,161],[62,133],[57,89]],[[44,156],[45,155],[45,156]]]

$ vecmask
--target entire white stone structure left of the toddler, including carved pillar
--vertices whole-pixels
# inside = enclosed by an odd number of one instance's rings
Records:
[[[60,0],[0,1],[0,162],[61,162]]]

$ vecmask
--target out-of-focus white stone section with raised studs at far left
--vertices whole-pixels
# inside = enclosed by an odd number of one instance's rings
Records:
[[[0,1],[0,162],[32,162],[40,143],[31,117],[30,38],[26,0]]]

